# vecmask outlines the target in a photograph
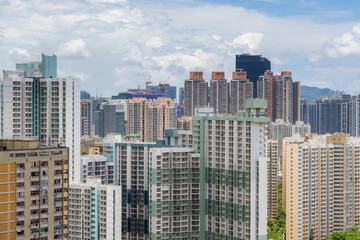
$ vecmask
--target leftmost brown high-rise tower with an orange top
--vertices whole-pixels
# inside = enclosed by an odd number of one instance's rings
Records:
[[[185,116],[193,116],[195,109],[208,106],[208,83],[202,72],[190,72],[190,79],[185,80]]]

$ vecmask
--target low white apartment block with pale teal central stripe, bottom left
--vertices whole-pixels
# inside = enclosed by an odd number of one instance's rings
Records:
[[[70,185],[69,238],[121,239],[121,187],[100,179]]]

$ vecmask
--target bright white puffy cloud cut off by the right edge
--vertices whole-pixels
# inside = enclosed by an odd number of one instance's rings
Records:
[[[325,46],[325,54],[332,58],[360,55],[360,24],[351,32],[332,39]]]

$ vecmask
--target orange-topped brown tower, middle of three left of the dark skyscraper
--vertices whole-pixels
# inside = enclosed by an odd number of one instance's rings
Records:
[[[212,72],[210,80],[210,106],[217,114],[229,113],[229,83],[224,72]]]

